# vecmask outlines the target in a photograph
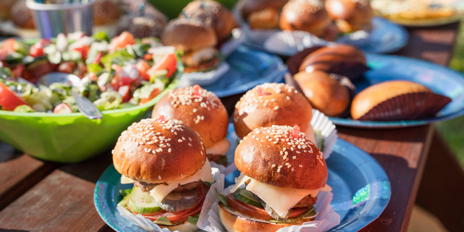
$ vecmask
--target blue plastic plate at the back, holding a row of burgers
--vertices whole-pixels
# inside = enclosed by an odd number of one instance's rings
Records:
[[[399,24],[394,24],[393,22],[390,22],[389,20],[382,17],[373,17],[372,25],[373,29],[369,34],[369,38],[367,38],[366,41],[353,41],[348,43],[353,44],[353,46],[356,46],[359,49],[362,49],[364,52],[369,53],[396,52],[408,43],[409,34],[408,31],[406,31],[403,28],[403,26],[400,26]],[[245,44],[254,49],[270,52],[268,51],[268,49],[264,47],[263,44],[251,42],[251,40],[248,40]],[[293,56],[293,54],[295,54],[296,52],[297,49],[295,48],[294,50],[290,49],[286,51],[277,52],[277,54],[282,56]]]

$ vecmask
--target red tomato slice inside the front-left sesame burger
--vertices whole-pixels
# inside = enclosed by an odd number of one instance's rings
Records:
[[[206,190],[204,190],[206,188]],[[177,222],[182,222],[188,219],[189,216],[195,216],[201,212],[201,207],[203,206],[203,202],[205,201],[205,192],[208,192],[209,187],[205,185],[199,185],[196,187],[196,190],[198,191],[198,198],[200,199],[198,203],[192,208],[189,208],[187,210],[180,210],[179,212],[169,212],[166,210],[161,210],[160,212],[156,212],[150,215],[143,215],[146,219],[150,219],[151,221],[155,222],[157,219],[160,217],[167,217],[169,222],[171,223],[177,223]],[[127,204],[127,207],[129,204]],[[130,208],[129,208],[130,209]],[[132,211],[132,210],[131,210]],[[137,212],[133,212],[134,215],[138,215]]]

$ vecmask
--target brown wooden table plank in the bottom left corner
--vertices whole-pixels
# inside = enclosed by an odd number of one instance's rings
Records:
[[[100,231],[107,229],[93,206],[94,183],[55,170],[0,211],[2,229]]]

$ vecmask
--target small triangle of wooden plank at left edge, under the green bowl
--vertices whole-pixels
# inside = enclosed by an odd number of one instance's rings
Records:
[[[36,160],[0,142],[0,210],[51,173],[57,164]]]

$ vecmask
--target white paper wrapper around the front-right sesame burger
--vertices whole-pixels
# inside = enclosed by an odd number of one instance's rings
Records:
[[[231,193],[232,187],[233,185],[227,187],[222,192],[219,191],[218,188],[217,191],[223,195],[227,195]],[[210,192],[208,192],[208,194],[210,194]],[[330,206],[330,202],[332,201],[332,199],[332,192],[319,192],[318,201],[314,205],[314,208],[316,208],[316,212],[318,212],[316,219],[313,222],[305,222],[301,226],[289,226],[286,228],[279,229],[279,232],[323,232],[330,230],[334,226],[337,226],[338,224],[340,224],[340,215],[337,212],[335,212],[332,206]],[[224,226],[222,226],[221,219],[219,218],[219,199],[217,198],[216,194],[214,194],[214,196],[211,196],[211,198],[208,198],[206,200],[213,203],[208,203],[209,208],[203,208],[201,210],[201,215],[208,215],[208,218],[206,218],[206,221],[203,220],[201,222],[201,227],[199,226],[199,228],[203,229],[204,231],[210,232],[226,231],[224,229]],[[206,206],[206,200],[205,204],[203,204],[203,207]],[[204,212],[206,212],[206,214],[203,214],[203,210]],[[197,223],[196,225],[198,226],[199,223]]]

